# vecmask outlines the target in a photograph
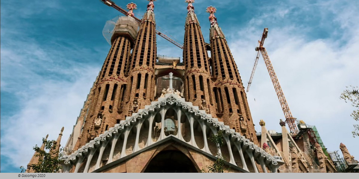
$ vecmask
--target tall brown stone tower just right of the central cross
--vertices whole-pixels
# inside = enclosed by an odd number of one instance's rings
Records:
[[[183,63],[185,64],[185,98],[186,101],[200,106],[215,117],[215,106],[210,64],[206,44],[201,27],[194,11],[194,0],[186,0],[187,17],[185,23],[185,38],[183,46]]]

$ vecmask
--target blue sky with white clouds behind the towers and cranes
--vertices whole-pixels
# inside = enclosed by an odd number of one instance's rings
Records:
[[[183,1],[155,2],[157,25],[180,42],[187,13]],[[124,7],[131,1],[115,2]],[[142,16],[148,1],[132,2]],[[210,5],[218,9],[215,15],[243,83],[250,77],[257,40],[269,28],[264,46],[293,116],[315,125],[328,150],[339,150],[343,142],[358,159],[358,138],[351,136],[354,108],[339,96],[345,86],[359,82],[359,1],[196,0],[206,42]],[[103,26],[122,14],[98,0],[1,1],[0,13],[0,171],[19,172],[32,147],[46,134],[56,139],[62,126],[65,145],[110,48]],[[180,48],[160,37],[157,46],[158,54],[182,58]],[[247,95],[256,130],[263,119],[267,129],[280,132],[284,115],[262,58]]]

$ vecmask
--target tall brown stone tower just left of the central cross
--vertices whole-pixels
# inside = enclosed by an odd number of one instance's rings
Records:
[[[124,99],[126,116],[131,116],[140,107],[149,105],[154,100],[157,46],[153,1],[155,0],[149,0],[147,11],[141,20],[131,61],[127,67],[129,87]]]

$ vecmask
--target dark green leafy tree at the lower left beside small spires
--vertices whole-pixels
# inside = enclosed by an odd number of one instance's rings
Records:
[[[45,146],[45,150],[42,150],[37,145],[33,147],[37,153],[35,156],[39,159],[38,163],[31,164],[28,167],[36,173],[56,173],[61,169],[60,158],[62,156],[62,149],[57,150],[57,142],[55,140],[48,141],[42,138],[42,143]],[[25,171],[23,166],[20,169],[21,173]]]

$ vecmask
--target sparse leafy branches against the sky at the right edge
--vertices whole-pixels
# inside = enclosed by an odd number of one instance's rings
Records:
[[[350,86],[351,89],[346,86],[344,92],[341,93],[340,98],[344,99],[345,102],[351,102],[351,106],[354,106],[356,110],[351,113],[351,117],[354,118],[355,121],[359,121],[359,89],[357,86]],[[354,130],[351,132],[353,137],[359,136],[359,125],[353,124]]]

